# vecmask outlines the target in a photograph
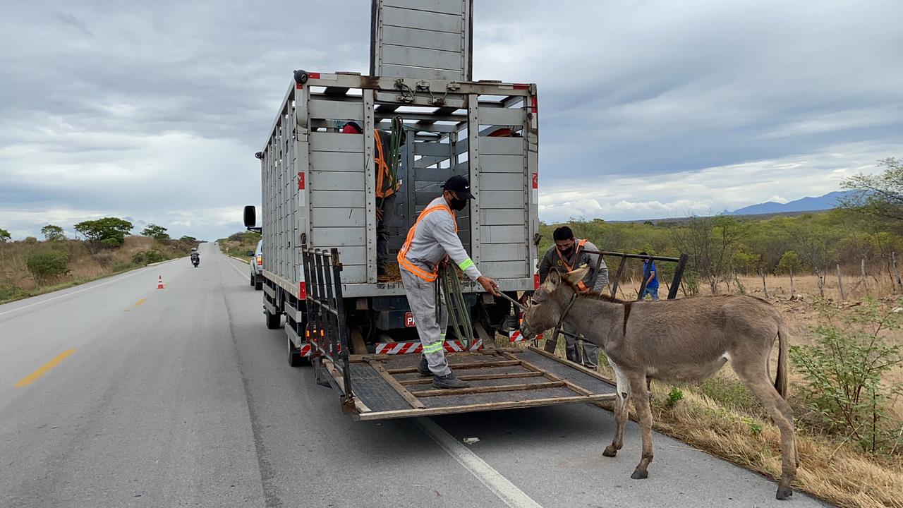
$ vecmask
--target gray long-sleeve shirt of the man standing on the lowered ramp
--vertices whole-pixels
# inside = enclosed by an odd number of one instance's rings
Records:
[[[424,210],[441,205],[448,206],[448,203],[445,202],[445,198],[439,196]],[[398,253],[399,263],[403,252],[404,250]],[[445,210],[436,210],[427,213],[414,225],[414,236],[411,238],[411,245],[405,258],[418,268],[432,273],[436,263],[442,261],[446,255],[470,280],[476,281],[480,277],[479,269],[461,245],[454,217]],[[405,268],[404,264],[401,268]]]

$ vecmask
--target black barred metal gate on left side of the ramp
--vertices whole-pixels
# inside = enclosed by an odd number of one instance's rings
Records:
[[[307,293],[307,335],[314,348],[318,381],[322,369],[326,381],[340,392],[342,408],[354,404],[349,369],[348,329],[341,294],[339,249],[302,249],[304,287]],[[325,363],[325,364],[324,364]],[[336,375],[336,372],[339,375]]]

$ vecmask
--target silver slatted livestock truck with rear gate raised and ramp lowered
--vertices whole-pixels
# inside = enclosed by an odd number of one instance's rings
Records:
[[[614,396],[597,372],[512,343],[517,308],[462,281],[470,337],[444,343],[470,388],[431,390],[400,278],[377,276],[375,129],[403,129],[389,218],[389,259],[454,174],[474,199],[457,215],[470,259],[517,299],[538,287],[539,109],[536,85],[472,80],[469,0],[376,0],[371,68],[294,71],[260,160],[268,328],[284,328],[293,366],[340,395],[355,419],[511,409]],[[362,133],[342,133],[355,122]],[[392,267],[389,267],[392,268]],[[389,269],[392,274],[393,270]],[[397,273],[397,270],[395,270]],[[525,344],[510,344],[525,345]]]

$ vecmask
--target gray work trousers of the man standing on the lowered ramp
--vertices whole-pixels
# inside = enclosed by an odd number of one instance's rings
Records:
[[[449,325],[445,297],[439,295],[441,313],[436,320],[436,285],[415,276],[405,268],[401,268],[401,282],[405,286],[407,303],[411,306],[420,343],[424,344],[424,356],[430,365],[430,372],[437,376],[447,376],[452,369],[449,369],[449,364],[445,361],[445,330]]]

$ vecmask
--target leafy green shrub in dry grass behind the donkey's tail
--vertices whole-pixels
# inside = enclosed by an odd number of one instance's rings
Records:
[[[825,431],[848,437],[862,450],[881,453],[899,447],[889,403],[903,386],[882,382],[903,361],[899,345],[880,337],[900,327],[900,315],[865,300],[852,316],[822,304],[824,322],[815,327],[815,344],[791,346],[790,359],[805,378],[799,387],[808,418]]]

